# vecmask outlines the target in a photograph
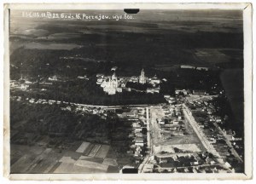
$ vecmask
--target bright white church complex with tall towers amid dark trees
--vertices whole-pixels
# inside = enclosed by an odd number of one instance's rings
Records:
[[[142,70],[140,76],[132,76],[132,77],[117,77],[115,73],[116,68],[114,68],[114,72],[112,76],[105,76],[103,74],[96,75],[96,83],[101,85],[103,91],[105,91],[108,95],[115,95],[116,93],[122,93],[123,91],[131,91],[131,88],[126,87],[126,83],[140,83],[145,84],[149,83],[152,85],[152,88],[146,89],[146,93],[160,93],[161,83],[160,78],[157,78],[156,75],[153,78],[148,78],[145,76],[144,70]]]

